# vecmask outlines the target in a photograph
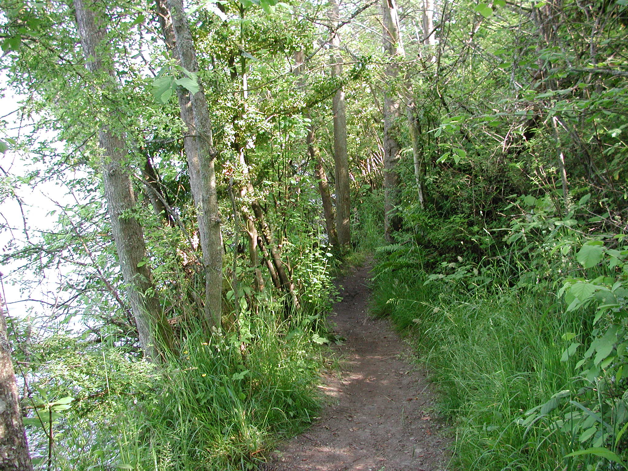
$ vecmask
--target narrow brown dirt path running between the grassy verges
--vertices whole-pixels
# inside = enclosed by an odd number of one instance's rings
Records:
[[[371,267],[341,280],[335,322],[340,372],[323,376],[327,406],[305,433],[284,443],[269,471],[440,471],[451,439],[433,413],[424,371],[387,319],[369,315]]]

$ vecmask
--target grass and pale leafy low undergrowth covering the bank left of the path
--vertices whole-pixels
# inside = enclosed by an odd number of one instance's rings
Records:
[[[318,275],[330,300],[325,273]],[[187,322],[178,352],[161,364],[115,344],[90,347],[63,328],[31,337],[16,357],[47,359],[24,385],[33,398],[24,423],[35,468],[256,469],[320,410],[318,372],[331,365],[323,337],[329,300],[290,315],[281,299],[257,300],[254,314],[242,310],[209,337]],[[28,321],[11,319],[17,335],[24,328]]]

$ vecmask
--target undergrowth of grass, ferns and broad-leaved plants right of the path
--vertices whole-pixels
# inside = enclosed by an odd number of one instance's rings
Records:
[[[562,220],[482,259],[426,247],[456,230],[436,215],[440,234],[414,219],[375,249],[374,313],[409,334],[438,387],[452,469],[625,468],[628,252]]]

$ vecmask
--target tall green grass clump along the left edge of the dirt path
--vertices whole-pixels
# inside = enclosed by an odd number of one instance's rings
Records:
[[[319,407],[317,351],[303,330],[287,327],[267,313],[241,326],[246,344],[236,335],[188,335],[183,355],[161,373],[161,388],[127,421],[134,440],[121,454],[133,457],[129,464],[137,470],[252,469],[279,437],[309,423]]]

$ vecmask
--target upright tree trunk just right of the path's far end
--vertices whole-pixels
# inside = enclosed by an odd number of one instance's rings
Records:
[[[383,0],[384,16],[384,51],[388,57],[386,77],[389,84],[398,80],[399,65],[395,58],[404,56],[403,45],[399,37],[399,16],[394,0]],[[393,242],[393,232],[401,229],[401,217],[397,206],[400,202],[399,173],[399,98],[386,90],[384,94],[384,236]]]

